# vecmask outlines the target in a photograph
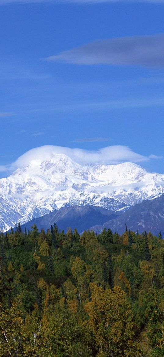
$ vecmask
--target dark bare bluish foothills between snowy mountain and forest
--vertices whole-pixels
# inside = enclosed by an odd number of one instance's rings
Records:
[[[79,233],[84,230],[93,230],[97,234],[104,228],[110,228],[112,232],[122,234],[125,231],[125,223],[128,229],[139,233],[152,232],[158,235],[161,231],[164,236],[164,194],[152,200],[144,200],[129,208],[125,212],[112,212],[106,208],[96,206],[64,206],[42,217],[21,226],[22,231],[31,230],[36,224],[39,231],[43,228],[47,231],[56,223],[60,230],[65,232],[68,228],[76,228]],[[97,223],[99,223],[97,225]]]

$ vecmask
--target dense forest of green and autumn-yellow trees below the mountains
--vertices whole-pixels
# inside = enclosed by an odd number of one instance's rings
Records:
[[[0,357],[164,356],[164,240],[0,234]]]

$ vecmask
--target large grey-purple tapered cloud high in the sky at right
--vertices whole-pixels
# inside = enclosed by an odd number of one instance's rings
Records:
[[[164,67],[164,34],[99,40],[46,60],[77,65]]]

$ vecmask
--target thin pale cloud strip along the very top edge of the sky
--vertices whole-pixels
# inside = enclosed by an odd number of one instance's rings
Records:
[[[63,4],[63,3],[79,3],[79,4],[96,4],[96,3],[103,3],[103,2],[125,2],[125,3],[132,3],[132,2],[146,2],[149,4],[164,4],[164,0],[0,0],[0,5],[5,4],[42,4],[42,3],[49,3],[49,4]]]

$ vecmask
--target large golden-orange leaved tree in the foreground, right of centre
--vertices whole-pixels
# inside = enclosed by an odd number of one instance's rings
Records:
[[[137,357],[141,356],[133,341],[134,325],[131,307],[126,293],[120,287],[105,291],[90,284],[91,302],[85,306],[89,315],[89,327],[99,346],[97,356]]]

